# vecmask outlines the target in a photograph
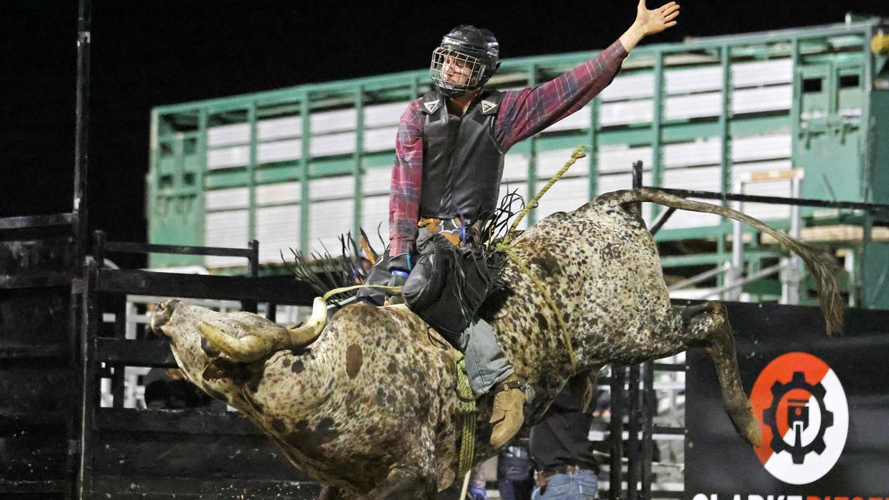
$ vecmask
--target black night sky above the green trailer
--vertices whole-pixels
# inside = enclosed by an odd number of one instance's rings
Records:
[[[887,0],[681,4],[677,27],[643,44],[829,24],[847,11],[889,17]],[[422,69],[440,37],[467,22],[492,29],[503,57],[604,48],[635,6],[93,0],[90,226],[144,241],[154,106]],[[76,10],[76,0],[0,0],[0,217],[71,210]]]

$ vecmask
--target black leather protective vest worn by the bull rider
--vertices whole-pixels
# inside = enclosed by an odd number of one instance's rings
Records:
[[[462,117],[448,113],[437,90],[423,96],[423,184],[420,217],[475,222],[493,214],[500,194],[503,151],[494,140],[502,94],[485,91]]]

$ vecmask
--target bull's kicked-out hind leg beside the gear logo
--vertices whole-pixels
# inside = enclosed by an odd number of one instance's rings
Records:
[[[701,306],[685,308],[682,316],[685,319],[689,345],[703,347],[716,365],[725,412],[732,419],[735,430],[751,445],[758,447],[762,439],[759,423],[750,411],[752,405],[741,387],[734,336],[725,305],[707,302]]]

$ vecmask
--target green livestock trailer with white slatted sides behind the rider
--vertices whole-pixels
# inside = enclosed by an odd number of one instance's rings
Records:
[[[637,160],[649,186],[885,204],[886,26],[849,16],[829,26],[638,47],[588,106],[510,149],[503,192],[530,198],[572,149],[586,144],[588,157],[556,183],[529,222],[628,189]],[[535,85],[590,56],[503,60],[490,85]],[[336,253],[337,237],[359,227],[388,239],[398,120],[429,88],[428,71],[417,70],[153,109],[149,242],[245,246],[257,239],[260,262],[277,272],[288,248],[324,245]],[[646,219],[660,208],[645,206]],[[885,215],[803,207],[797,216],[789,206],[765,204],[742,209],[780,228],[798,221],[802,238],[844,263],[852,305],[889,308]],[[656,238],[665,274],[688,278],[725,269],[739,234],[733,237],[732,223],[712,214],[673,215]],[[784,256],[761,235],[740,238],[748,275]],[[243,269],[237,260],[213,256],[158,254],[150,265]],[[723,284],[718,273],[714,279]],[[780,288],[776,279],[743,287],[755,300],[776,298]]]

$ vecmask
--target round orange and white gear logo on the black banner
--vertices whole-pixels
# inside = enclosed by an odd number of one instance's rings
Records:
[[[845,447],[849,407],[837,374],[822,359],[789,352],[772,360],[750,392],[765,470],[789,484],[827,474]]]

